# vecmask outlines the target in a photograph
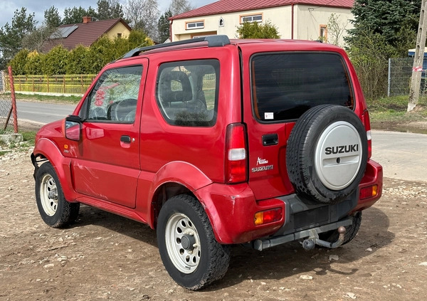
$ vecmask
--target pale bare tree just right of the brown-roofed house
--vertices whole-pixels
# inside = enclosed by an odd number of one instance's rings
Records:
[[[158,7],[157,0],[128,0],[125,19],[133,29],[142,29],[150,38],[157,40]]]

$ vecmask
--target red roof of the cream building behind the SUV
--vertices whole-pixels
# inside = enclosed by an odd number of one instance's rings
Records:
[[[303,4],[312,6],[330,6],[351,9],[354,0],[220,0],[201,6],[198,9],[187,11],[184,14],[173,16],[171,19],[193,18],[196,16],[210,16],[226,14],[234,11],[251,11],[253,9],[268,9],[270,7]]]

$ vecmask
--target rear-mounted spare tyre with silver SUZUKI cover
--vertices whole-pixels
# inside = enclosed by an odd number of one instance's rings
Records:
[[[286,167],[296,194],[335,204],[357,189],[367,154],[367,132],[359,117],[347,107],[318,105],[295,123]]]

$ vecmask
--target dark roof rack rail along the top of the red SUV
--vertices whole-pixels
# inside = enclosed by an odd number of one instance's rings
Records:
[[[132,58],[132,56],[137,56],[142,51],[150,51],[153,49],[159,49],[159,48],[167,48],[171,46],[179,46],[179,45],[186,45],[191,43],[199,43],[199,42],[208,42],[208,47],[222,47],[224,45],[230,44],[230,39],[226,35],[218,35],[218,36],[205,36],[203,38],[191,38],[189,40],[183,40],[183,41],[176,41],[171,43],[163,43],[159,45],[153,45],[153,46],[147,46],[147,47],[141,47],[141,48],[135,48],[129,51],[125,54],[122,58]]]

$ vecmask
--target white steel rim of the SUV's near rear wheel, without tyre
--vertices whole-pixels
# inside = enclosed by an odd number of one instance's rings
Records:
[[[199,266],[201,248],[199,233],[191,220],[182,213],[174,213],[166,224],[167,253],[181,273],[193,273]]]

